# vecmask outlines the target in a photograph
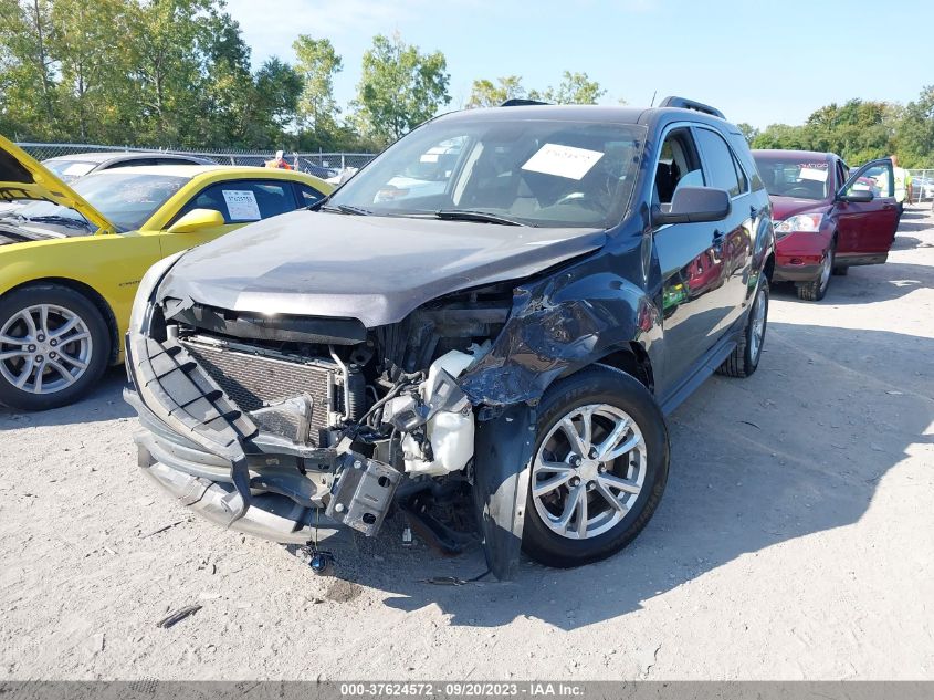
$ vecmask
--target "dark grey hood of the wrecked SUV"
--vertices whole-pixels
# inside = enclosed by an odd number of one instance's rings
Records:
[[[300,210],[183,255],[159,299],[265,314],[397,323],[438,296],[527,276],[600,248],[595,229],[538,229]]]

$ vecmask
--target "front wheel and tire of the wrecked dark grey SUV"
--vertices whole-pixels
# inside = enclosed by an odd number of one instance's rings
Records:
[[[567,568],[616,554],[648,524],[668,481],[669,439],[652,395],[594,366],[542,399],[523,550]]]

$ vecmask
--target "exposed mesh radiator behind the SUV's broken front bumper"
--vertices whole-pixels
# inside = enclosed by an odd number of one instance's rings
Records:
[[[286,399],[307,394],[312,397],[311,435],[315,445],[322,445],[322,431],[328,427],[330,387],[336,382],[338,368],[324,363],[290,362],[274,357],[238,352],[213,343],[187,338],[182,344],[188,353],[231,400],[244,411],[258,411]],[[264,414],[264,415],[263,415]],[[283,437],[303,441],[295,435],[296,421],[286,411],[258,414],[263,427]],[[283,425],[286,421],[288,425]]]

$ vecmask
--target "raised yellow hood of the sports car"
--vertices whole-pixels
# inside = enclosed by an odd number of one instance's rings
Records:
[[[103,213],[41,163],[0,136],[0,201],[41,199],[74,209],[101,232],[116,230]]]

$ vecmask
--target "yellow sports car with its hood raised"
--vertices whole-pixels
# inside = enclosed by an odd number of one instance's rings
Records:
[[[149,166],[69,187],[0,136],[0,404],[64,406],[122,362],[136,286],[157,260],[333,189],[294,170]]]

